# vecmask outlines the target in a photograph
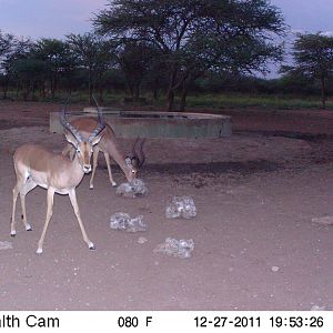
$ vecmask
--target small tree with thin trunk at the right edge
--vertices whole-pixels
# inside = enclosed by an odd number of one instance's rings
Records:
[[[281,72],[305,75],[320,81],[322,108],[326,108],[326,81],[333,73],[333,37],[319,33],[297,34],[292,56],[295,64],[282,67]]]

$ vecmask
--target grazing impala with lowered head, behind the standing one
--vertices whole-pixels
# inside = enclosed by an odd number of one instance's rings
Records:
[[[83,138],[89,138],[93,129],[97,127],[99,122],[103,123],[102,120],[102,112],[101,109],[98,107],[99,110],[99,120],[93,119],[93,118],[79,118],[75,119],[71,122],[71,124],[80,132],[80,134]],[[111,167],[110,167],[110,158],[112,158],[117,164],[121,168],[123,173],[125,174],[125,178],[129,182],[131,182],[135,176],[139,171],[139,169],[142,167],[144,163],[144,154],[143,154],[143,147],[144,139],[141,140],[141,143],[139,143],[139,138],[135,140],[133,148],[132,148],[132,153],[128,157],[123,157],[121,153],[121,150],[118,147],[117,143],[117,137],[111,129],[110,125],[105,124],[105,130],[104,130],[104,135],[97,144],[93,147],[93,163],[92,163],[92,174],[90,179],[90,189],[93,189],[93,179],[95,174],[95,169],[98,167],[98,158],[99,158],[99,152],[103,152],[107,167],[108,167],[108,173],[109,173],[109,180],[112,186],[117,186],[115,181],[113,180],[112,173],[111,173]],[[138,149],[138,144],[139,149]],[[62,154],[67,155],[68,153],[70,157],[73,154],[73,148],[71,144],[68,144],[63,151]]]

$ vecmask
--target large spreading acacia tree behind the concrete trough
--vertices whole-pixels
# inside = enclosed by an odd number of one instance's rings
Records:
[[[283,19],[268,0],[109,0],[108,6],[94,18],[97,32],[160,50],[169,110],[175,91],[182,88],[185,98],[190,82],[209,69],[258,70],[281,56],[272,34],[283,32]]]

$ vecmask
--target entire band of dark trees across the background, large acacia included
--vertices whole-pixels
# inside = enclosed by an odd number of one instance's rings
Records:
[[[279,80],[253,77],[281,61],[280,10],[268,0],[109,0],[93,31],[64,39],[17,38],[0,31],[0,87],[23,99],[59,92],[125,90],[162,94],[169,110],[184,110],[189,91],[313,93],[323,107],[333,69],[332,38],[299,36],[294,67]],[[330,85],[329,85],[330,87]]]

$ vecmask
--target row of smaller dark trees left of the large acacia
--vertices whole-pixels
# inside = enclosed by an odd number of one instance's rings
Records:
[[[69,34],[65,40],[17,39],[0,33],[0,85],[6,99],[9,89],[22,93],[24,100],[54,98],[59,90],[71,93],[88,90],[100,97],[108,84],[119,88],[113,79],[114,54],[110,42],[94,33]],[[110,87],[108,87],[110,88]]]

